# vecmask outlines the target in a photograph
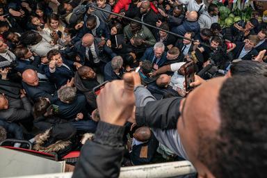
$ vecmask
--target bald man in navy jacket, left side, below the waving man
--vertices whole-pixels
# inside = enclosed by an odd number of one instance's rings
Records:
[[[40,97],[47,97],[50,102],[54,102],[57,97],[54,95],[56,87],[44,75],[35,70],[24,70],[22,73],[22,86],[28,97],[33,101]]]

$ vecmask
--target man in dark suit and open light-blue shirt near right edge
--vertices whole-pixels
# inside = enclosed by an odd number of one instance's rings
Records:
[[[258,55],[254,46],[259,42],[257,35],[250,35],[245,42],[236,42],[236,48],[233,50],[234,59],[252,60]]]

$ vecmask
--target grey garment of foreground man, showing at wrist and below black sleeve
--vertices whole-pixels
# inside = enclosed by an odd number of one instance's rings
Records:
[[[136,87],[134,90],[134,95],[136,97],[136,107],[145,106],[148,102],[156,101],[149,90],[144,88],[144,86]],[[152,131],[156,136],[156,139],[159,140],[159,143],[171,149],[172,152],[175,152],[175,154],[177,154],[178,156],[181,156],[184,159],[188,159],[177,129],[162,130],[152,128]]]

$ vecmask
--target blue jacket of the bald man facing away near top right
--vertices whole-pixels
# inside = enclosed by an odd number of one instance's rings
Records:
[[[195,34],[200,33],[200,24],[197,21],[190,22],[185,20],[181,25],[172,28],[172,32],[178,35],[184,35],[187,31],[193,31]]]

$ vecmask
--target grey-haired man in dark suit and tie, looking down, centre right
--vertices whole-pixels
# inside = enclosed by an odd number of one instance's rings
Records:
[[[163,66],[166,61],[167,53],[164,50],[164,44],[162,42],[156,42],[154,47],[150,47],[145,50],[145,54],[142,58],[140,58],[140,60],[149,60],[152,63],[154,70],[158,70],[159,67]]]

